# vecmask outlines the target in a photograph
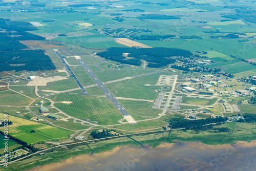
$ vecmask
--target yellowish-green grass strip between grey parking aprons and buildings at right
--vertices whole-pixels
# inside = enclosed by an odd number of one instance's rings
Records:
[[[205,98],[193,98],[193,97],[182,97],[182,103],[188,104],[201,104],[201,105],[211,105],[214,104],[218,98],[205,99]]]

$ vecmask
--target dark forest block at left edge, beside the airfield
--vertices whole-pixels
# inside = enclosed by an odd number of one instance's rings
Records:
[[[45,39],[45,37],[26,32],[36,30],[30,23],[0,18],[0,28],[8,30],[8,32],[0,33],[0,72],[56,69],[50,57],[43,50],[24,50],[28,47],[19,42],[19,40]]]

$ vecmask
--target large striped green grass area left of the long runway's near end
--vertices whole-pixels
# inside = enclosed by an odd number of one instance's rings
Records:
[[[70,104],[55,103],[61,111],[76,118],[87,118],[98,121],[98,124],[117,124],[122,114],[116,109],[110,99],[78,94],[58,94],[48,96],[53,101],[72,101]]]

